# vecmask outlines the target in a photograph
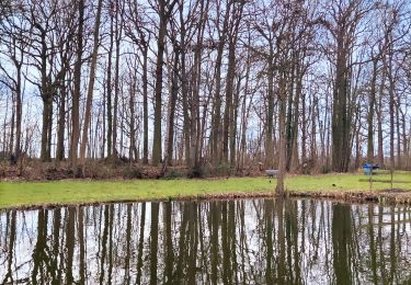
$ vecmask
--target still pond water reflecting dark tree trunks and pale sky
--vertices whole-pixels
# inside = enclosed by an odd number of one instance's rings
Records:
[[[311,200],[0,212],[0,284],[410,284],[411,208]]]

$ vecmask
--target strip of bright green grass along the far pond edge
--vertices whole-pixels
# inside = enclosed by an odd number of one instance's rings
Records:
[[[393,176],[375,175],[368,182],[364,175],[328,174],[287,176],[286,187],[293,195],[339,196],[344,193],[373,195],[406,195],[411,198],[411,173]],[[372,189],[370,189],[372,187]],[[69,205],[115,201],[173,200],[183,197],[262,196],[274,193],[275,179],[229,178],[219,180],[130,180],[55,182],[0,182],[0,208]]]

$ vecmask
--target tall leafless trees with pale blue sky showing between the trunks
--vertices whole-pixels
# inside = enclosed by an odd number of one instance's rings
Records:
[[[410,161],[404,0],[10,0],[0,150],[242,171]]]

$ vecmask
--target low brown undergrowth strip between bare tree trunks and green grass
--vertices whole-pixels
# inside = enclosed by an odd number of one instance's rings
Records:
[[[42,162],[28,159],[24,166],[0,162],[0,179],[7,181],[56,181],[65,179],[178,179],[178,178],[221,178],[221,176],[260,176],[264,175],[258,168],[243,171],[231,170],[225,166],[212,169],[204,166],[201,170],[190,171],[186,167],[151,167],[134,163],[126,159],[88,159],[77,171],[68,161]]]

